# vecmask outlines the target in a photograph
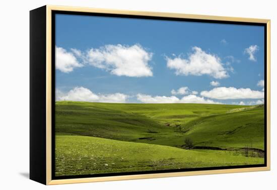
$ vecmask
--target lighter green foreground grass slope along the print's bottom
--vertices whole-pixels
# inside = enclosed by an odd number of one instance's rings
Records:
[[[262,164],[234,151],[185,150],[86,136],[56,136],[56,175]]]

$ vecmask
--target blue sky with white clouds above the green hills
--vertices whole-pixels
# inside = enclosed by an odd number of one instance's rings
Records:
[[[263,36],[261,26],[58,14],[56,100],[261,104]]]

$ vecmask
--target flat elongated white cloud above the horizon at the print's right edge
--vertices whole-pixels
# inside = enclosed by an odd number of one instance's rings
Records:
[[[264,97],[264,92],[251,90],[250,88],[235,88],[235,87],[217,87],[210,91],[201,91],[201,96],[228,100],[228,99],[261,99]]]

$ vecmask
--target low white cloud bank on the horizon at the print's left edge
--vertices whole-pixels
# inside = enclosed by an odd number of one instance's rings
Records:
[[[128,96],[123,93],[96,94],[82,86],[75,87],[66,93],[56,90],[56,101],[125,103],[127,98]]]

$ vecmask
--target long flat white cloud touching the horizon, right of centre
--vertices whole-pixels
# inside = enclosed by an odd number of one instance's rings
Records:
[[[214,102],[209,99],[204,99],[203,97],[197,97],[194,94],[184,96],[182,99],[178,99],[175,96],[155,96],[152,97],[146,94],[137,94],[137,100],[142,103],[147,104],[170,104],[170,103],[197,103],[197,104],[221,104],[219,102]]]

